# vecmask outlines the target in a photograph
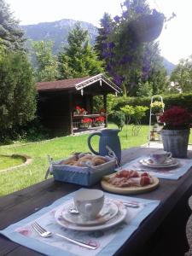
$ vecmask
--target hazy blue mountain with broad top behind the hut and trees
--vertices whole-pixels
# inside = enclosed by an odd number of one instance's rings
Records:
[[[70,32],[77,20],[63,19],[53,22],[42,22],[35,25],[21,26],[27,39],[35,41],[51,40],[54,42],[53,52],[56,54],[63,45],[67,44],[68,32]],[[94,44],[98,34],[97,27],[91,23],[81,21],[82,28],[88,30],[90,44]],[[29,44],[29,42],[28,42]]]

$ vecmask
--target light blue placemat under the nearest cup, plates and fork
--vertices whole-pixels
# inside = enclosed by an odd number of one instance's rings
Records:
[[[153,212],[160,204],[160,201],[144,200],[141,198],[134,198],[123,195],[112,195],[105,193],[106,197],[112,200],[118,201],[137,201],[138,208],[127,208],[127,216],[125,221],[115,225],[108,230],[97,231],[77,231],[68,230],[56,223],[54,214],[56,209],[65,204],[65,202],[72,200],[73,193],[62,197],[55,201],[49,207],[44,207],[42,210],[30,215],[27,218],[20,220],[15,224],[11,224],[8,228],[0,230],[0,234],[8,237],[10,240],[19,243],[22,246],[32,248],[39,253],[46,255],[85,255],[89,253],[89,256],[109,256],[113,255],[119,247],[121,247],[125,241],[131,236],[131,234],[137,230],[139,224],[144,218]],[[42,224],[48,230],[60,233],[64,236],[71,236],[74,239],[81,241],[90,241],[96,243],[98,246],[96,250],[86,249],[73,245],[62,238],[42,238],[32,230],[32,222],[36,220],[39,224]]]

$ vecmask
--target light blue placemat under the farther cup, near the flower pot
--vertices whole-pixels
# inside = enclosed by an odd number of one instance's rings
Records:
[[[131,170],[137,170],[149,172],[151,175],[154,175],[155,177],[160,178],[166,178],[166,179],[174,179],[177,180],[179,177],[182,177],[183,174],[189,171],[189,168],[192,166],[192,160],[191,159],[176,159],[179,161],[179,165],[172,167],[172,168],[152,168],[148,166],[143,166],[139,163],[139,160],[148,159],[148,156],[143,155],[142,157],[137,158],[136,160],[132,160],[129,163],[126,163],[125,165],[121,166],[123,169],[131,169]],[[120,168],[118,169],[120,170]]]

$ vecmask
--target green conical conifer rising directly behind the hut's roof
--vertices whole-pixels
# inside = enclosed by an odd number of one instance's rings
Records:
[[[62,79],[79,78],[103,72],[102,61],[97,59],[96,51],[90,46],[88,31],[75,24],[67,38],[68,46],[59,55]]]

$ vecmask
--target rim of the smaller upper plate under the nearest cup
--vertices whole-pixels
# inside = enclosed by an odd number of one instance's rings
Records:
[[[92,224],[86,224],[86,223],[82,223],[82,224],[79,224],[79,223],[75,223],[75,221],[73,221],[73,220],[69,220],[69,219],[67,219],[67,218],[65,218],[64,217],[64,214],[63,214],[63,212],[64,212],[64,210],[62,210],[62,212],[61,212],[61,216],[62,216],[62,218],[64,218],[67,222],[69,222],[69,223],[71,223],[71,224],[76,224],[76,225],[80,225],[80,226],[91,226],[91,225],[99,225],[99,224],[104,224],[104,223],[106,223],[107,221],[109,221],[111,218],[114,218],[117,214],[118,214],[118,212],[119,212],[119,208],[118,208],[118,206],[117,206],[117,204],[116,203],[114,203],[110,198],[106,198],[106,199],[108,199],[109,200],[109,203],[111,204],[111,205],[113,205],[113,207],[116,207],[116,209],[115,209],[115,212],[112,214],[112,216],[110,216],[110,218],[107,218],[107,219],[104,219],[103,217],[100,217],[100,218],[103,218],[103,221],[98,221],[98,222],[96,222],[96,223],[92,223]],[[66,207],[69,207],[70,206],[70,204],[73,204],[73,200],[72,201],[68,201],[68,203],[66,204]],[[65,207],[65,206],[63,206],[63,207]],[[100,218],[98,218],[98,219],[100,219]]]

